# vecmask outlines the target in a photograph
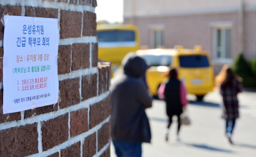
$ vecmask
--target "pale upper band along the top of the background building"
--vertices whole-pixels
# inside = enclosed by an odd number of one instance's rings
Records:
[[[132,15],[151,16],[187,14],[195,12],[230,12],[238,10],[240,1],[241,0],[124,0],[124,17]],[[243,1],[246,8],[256,7],[255,0]]]

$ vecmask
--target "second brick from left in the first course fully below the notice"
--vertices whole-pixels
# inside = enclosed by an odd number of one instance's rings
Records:
[[[69,114],[52,118],[42,123],[42,150],[48,150],[69,138]]]

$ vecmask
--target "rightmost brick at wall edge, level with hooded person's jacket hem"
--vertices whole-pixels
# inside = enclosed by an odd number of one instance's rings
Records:
[[[98,151],[110,142],[110,123],[104,124],[98,131]]]

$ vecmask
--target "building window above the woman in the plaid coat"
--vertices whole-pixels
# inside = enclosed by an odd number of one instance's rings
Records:
[[[230,59],[231,58],[231,29],[230,28],[216,28],[216,59]]]

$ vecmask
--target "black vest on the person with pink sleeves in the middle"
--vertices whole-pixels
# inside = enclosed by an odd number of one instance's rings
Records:
[[[182,111],[180,84],[178,79],[169,79],[165,84],[165,102],[167,116],[180,115]]]

